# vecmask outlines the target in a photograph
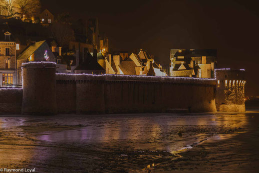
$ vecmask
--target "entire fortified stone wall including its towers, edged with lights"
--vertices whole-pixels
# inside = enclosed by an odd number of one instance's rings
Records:
[[[0,113],[245,111],[243,72],[216,70],[216,79],[55,74],[53,62],[27,62],[22,64],[23,89],[0,89]]]

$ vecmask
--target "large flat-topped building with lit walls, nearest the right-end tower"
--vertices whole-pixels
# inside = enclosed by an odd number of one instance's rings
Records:
[[[213,78],[217,49],[171,49],[170,76]]]

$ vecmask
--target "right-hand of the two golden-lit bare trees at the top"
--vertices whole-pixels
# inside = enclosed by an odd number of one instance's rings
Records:
[[[15,0],[19,12],[25,16],[33,16],[40,10],[39,0]]]

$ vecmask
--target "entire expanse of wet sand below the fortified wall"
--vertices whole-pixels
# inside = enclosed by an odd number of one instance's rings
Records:
[[[0,167],[36,172],[257,172],[258,146],[259,112],[0,116]]]

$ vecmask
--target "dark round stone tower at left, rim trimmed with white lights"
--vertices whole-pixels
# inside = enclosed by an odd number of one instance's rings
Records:
[[[57,114],[55,73],[54,62],[22,63],[22,114]]]

